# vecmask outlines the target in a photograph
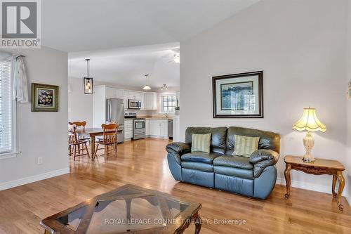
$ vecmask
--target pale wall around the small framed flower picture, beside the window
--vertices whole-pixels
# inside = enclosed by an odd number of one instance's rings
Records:
[[[18,157],[0,160],[0,190],[69,173],[67,53],[45,47],[6,51],[26,56],[29,84],[59,86],[59,111],[31,112],[30,103],[18,104],[18,150],[21,153]],[[43,164],[37,164],[38,157],[43,157]]]

